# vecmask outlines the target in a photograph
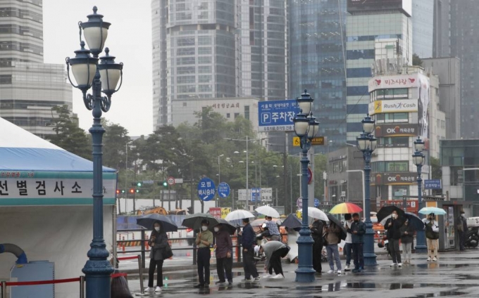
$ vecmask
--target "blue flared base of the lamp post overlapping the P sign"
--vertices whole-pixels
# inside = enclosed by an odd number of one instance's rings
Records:
[[[298,257],[299,264],[296,271],[297,283],[312,283],[314,281],[314,275],[316,271],[313,269],[313,238],[311,238],[311,232],[309,228],[303,231],[305,228],[301,228],[299,235],[301,235],[296,241],[298,244]]]

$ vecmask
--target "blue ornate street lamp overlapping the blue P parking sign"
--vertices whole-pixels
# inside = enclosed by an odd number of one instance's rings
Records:
[[[308,151],[311,148],[311,139],[316,136],[319,129],[319,122],[311,113],[311,105],[313,98],[304,90],[301,98],[297,98],[297,103],[301,112],[294,119],[294,132],[301,141],[302,157],[301,157],[301,194],[303,197],[303,216],[301,230],[299,231],[298,255],[299,264],[296,272],[296,281],[299,283],[311,283],[314,281],[313,269],[313,238],[308,226]],[[306,115],[309,115],[307,117]]]

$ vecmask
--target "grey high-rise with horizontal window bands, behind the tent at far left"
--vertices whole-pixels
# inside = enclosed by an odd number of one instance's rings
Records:
[[[63,65],[43,63],[42,0],[0,1],[0,117],[27,131],[54,134],[51,108],[68,105]]]

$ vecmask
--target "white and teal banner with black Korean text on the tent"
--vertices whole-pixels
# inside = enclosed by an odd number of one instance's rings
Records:
[[[93,173],[0,171],[0,206],[91,205]],[[116,173],[103,174],[104,205],[116,200]]]

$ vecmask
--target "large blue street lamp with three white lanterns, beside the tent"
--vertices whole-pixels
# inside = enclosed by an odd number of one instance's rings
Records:
[[[102,298],[111,295],[110,275],[113,267],[107,260],[109,253],[106,250],[103,234],[101,141],[105,129],[101,126],[101,113],[108,112],[111,95],[119,89],[119,87],[116,89],[116,86],[123,77],[123,64],[115,63],[115,57],[109,56],[108,48],[105,48],[105,56],[98,58],[103,51],[110,23],[104,22],[103,15],[97,14],[97,6],[94,6],[93,14],[87,17],[87,22],[78,23],[81,48],[75,51],[75,58],[66,58],[66,65],[70,84],[82,91],[85,107],[93,111],[93,126],[89,129],[93,144],[93,240],[87,254],[89,260],[82,271],[85,273],[87,298]],[[85,42],[81,41],[82,32],[89,49],[86,49]],[[100,63],[98,63],[99,60],[101,60]],[[70,67],[77,85],[70,79]],[[92,94],[87,94],[90,88],[92,88]],[[106,96],[101,96],[101,92]]]

